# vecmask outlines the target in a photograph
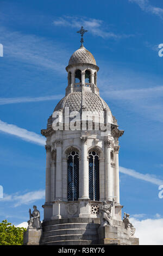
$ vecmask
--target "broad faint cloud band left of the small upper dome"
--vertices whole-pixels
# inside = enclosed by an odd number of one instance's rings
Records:
[[[70,53],[65,46],[33,34],[9,31],[0,26],[0,41],[4,47],[4,57],[15,58],[37,68],[65,73]]]

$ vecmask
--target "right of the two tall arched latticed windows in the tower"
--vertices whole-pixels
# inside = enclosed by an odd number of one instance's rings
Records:
[[[89,198],[99,201],[99,156],[96,151],[89,153]]]

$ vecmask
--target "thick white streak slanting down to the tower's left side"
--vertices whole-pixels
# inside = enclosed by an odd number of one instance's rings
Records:
[[[22,138],[24,141],[29,141],[39,145],[45,145],[46,141],[41,135],[36,134],[35,132],[27,131],[26,129],[22,129],[16,125],[8,124],[0,120],[0,131],[9,133],[10,135],[14,135]]]

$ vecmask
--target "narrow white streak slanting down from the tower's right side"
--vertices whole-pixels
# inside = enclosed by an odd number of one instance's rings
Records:
[[[136,172],[135,170],[127,169],[124,167],[120,167],[120,172],[123,174],[127,174],[129,176],[132,176],[133,178],[136,178],[136,179],[151,182],[152,184],[155,184],[158,186],[163,185],[163,180],[155,178],[155,176],[151,174],[142,174],[142,173]]]

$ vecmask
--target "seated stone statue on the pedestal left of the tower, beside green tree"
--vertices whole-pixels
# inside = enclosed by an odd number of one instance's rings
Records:
[[[41,221],[40,221],[40,211],[37,210],[37,206],[33,206],[33,212],[31,213],[31,210],[29,209],[29,218],[28,221],[28,229],[29,228],[42,228],[41,227]]]

